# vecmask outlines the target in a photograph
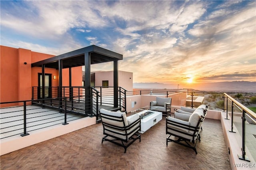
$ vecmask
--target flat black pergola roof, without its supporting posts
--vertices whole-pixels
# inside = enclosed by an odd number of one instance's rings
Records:
[[[31,64],[31,67],[42,67],[44,64],[46,68],[58,69],[58,61],[62,60],[62,68],[78,67],[84,65],[84,55],[90,53],[91,64],[105,63],[110,61],[122,60],[123,55],[98,47],[90,45],[81,49],[70,51],[52,58],[44,59]]]

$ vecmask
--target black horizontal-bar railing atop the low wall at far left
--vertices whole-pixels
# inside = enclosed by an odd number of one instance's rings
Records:
[[[61,102],[60,102],[61,101]],[[37,99],[27,101],[1,102],[0,105],[13,104],[16,106],[1,108],[0,138],[7,138],[28,132],[51,127],[67,125],[68,122],[87,117],[84,106],[71,105],[69,97]],[[77,108],[76,112],[74,109]]]

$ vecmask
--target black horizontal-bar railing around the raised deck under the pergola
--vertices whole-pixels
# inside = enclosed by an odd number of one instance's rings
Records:
[[[59,97],[58,87],[45,87],[45,97]],[[68,107],[73,111],[74,109],[80,109],[86,113],[90,113],[91,116],[95,115],[98,120],[98,105],[107,105],[114,107],[114,87],[91,87],[90,94],[86,94],[83,86],[64,86],[62,87],[62,96],[69,97],[67,100]],[[32,87],[32,100],[42,98],[42,87]],[[88,102],[90,101],[90,102]],[[42,101],[45,102],[45,101]],[[84,109],[79,107],[78,103],[84,102]],[[126,90],[122,87],[118,87],[118,107],[126,111]]]

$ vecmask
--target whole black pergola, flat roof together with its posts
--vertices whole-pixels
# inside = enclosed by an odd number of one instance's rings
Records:
[[[69,86],[72,86],[71,68],[78,66],[85,66],[85,93],[90,94],[90,72],[91,64],[114,62],[114,107],[118,106],[118,60],[122,60],[123,55],[98,47],[90,45],[81,49],[70,51],[55,57],[32,63],[31,67],[42,67],[42,96],[44,96],[45,88],[45,68],[55,68],[59,71],[59,91],[58,95],[62,96],[62,69],[69,68]],[[85,101],[90,104],[90,100]],[[89,103],[88,103],[89,102]]]

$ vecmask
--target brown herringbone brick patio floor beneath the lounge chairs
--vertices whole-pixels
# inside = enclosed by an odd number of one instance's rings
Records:
[[[102,124],[16,150],[0,157],[0,168],[14,169],[90,169],[90,170],[167,170],[231,169],[221,123],[205,119],[197,151],[169,142],[166,146],[165,119],[141,134],[127,148],[101,143]]]

